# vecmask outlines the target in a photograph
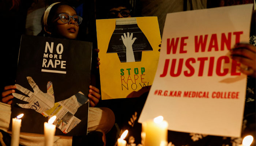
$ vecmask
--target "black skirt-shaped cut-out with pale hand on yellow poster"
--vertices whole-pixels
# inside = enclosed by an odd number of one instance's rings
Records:
[[[138,62],[142,61],[143,51],[153,51],[153,48],[139,28],[136,18],[116,19],[106,53],[117,53],[120,62]]]

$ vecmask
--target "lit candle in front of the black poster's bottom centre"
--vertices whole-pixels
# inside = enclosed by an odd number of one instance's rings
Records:
[[[53,146],[53,140],[56,130],[56,125],[52,124],[56,116],[53,116],[48,120],[48,123],[44,123],[44,134],[45,134],[45,146]]]

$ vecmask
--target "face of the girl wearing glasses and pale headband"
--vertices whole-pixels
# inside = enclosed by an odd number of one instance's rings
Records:
[[[53,19],[53,34],[58,37],[64,37],[68,39],[76,39],[79,31],[79,25],[75,24],[75,21],[70,18],[68,23],[63,23],[59,17],[59,14],[68,14],[69,16],[76,15],[76,11],[68,6],[61,5],[57,9],[56,19]]]

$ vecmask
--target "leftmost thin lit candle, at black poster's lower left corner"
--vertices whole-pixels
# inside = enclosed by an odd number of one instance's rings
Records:
[[[24,114],[20,114],[16,116],[16,118],[12,118],[12,139],[11,146],[19,146],[19,133],[21,126],[21,119]]]

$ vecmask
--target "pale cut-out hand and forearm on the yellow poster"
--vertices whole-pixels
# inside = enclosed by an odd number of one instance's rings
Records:
[[[127,32],[127,37],[124,33],[124,36],[122,35],[121,38],[123,40],[124,46],[126,47],[126,62],[135,62],[133,50],[132,50],[132,44],[134,43],[136,38],[132,39],[132,33],[129,36],[129,32]]]

